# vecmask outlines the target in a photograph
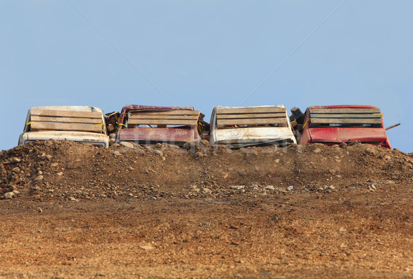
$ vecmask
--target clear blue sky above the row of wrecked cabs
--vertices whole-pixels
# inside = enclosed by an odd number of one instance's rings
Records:
[[[85,17],[102,32],[118,52]],[[0,149],[34,105],[241,105],[343,1],[0,0]],[[381,108],[412,152],[413,1],[343,3],[243,105]],[[133,63],[160,94],[136,70]]]

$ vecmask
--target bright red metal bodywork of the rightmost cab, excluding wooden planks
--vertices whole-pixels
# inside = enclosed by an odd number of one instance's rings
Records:
[[[374,105],[314,105],[306,110],[304,129],[299,143],[324,143],[334,145],[339,143],[349,143],[351,141],[361,141],[372,145],[381,145],[391,149],[390,141],[385,132],[383,118],[381,127],[310,127],[310,112],[319,108],[372,108],[378,109]]]

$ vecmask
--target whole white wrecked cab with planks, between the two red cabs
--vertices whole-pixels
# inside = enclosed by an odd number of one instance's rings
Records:
[[[211,145],[231,148],[297,143],[284,105],[215,107],[211,114]]]

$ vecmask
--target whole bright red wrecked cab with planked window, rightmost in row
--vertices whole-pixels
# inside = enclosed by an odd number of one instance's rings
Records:
[[[335,119],[332,119],[333,117]],[[328,122],[330,120],[332,123]],[[307,108],[300,144],[335,145],[351,141],[361,141],[361,143],[381,145],[391,149],[383,124],[383,116],[378,107],[374,105],[314,105]]]

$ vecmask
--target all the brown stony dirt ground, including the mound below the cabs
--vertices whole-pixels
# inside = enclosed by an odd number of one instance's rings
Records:
[[[357,143],[14,147],[0,278],[411,277],[412,169]]]

